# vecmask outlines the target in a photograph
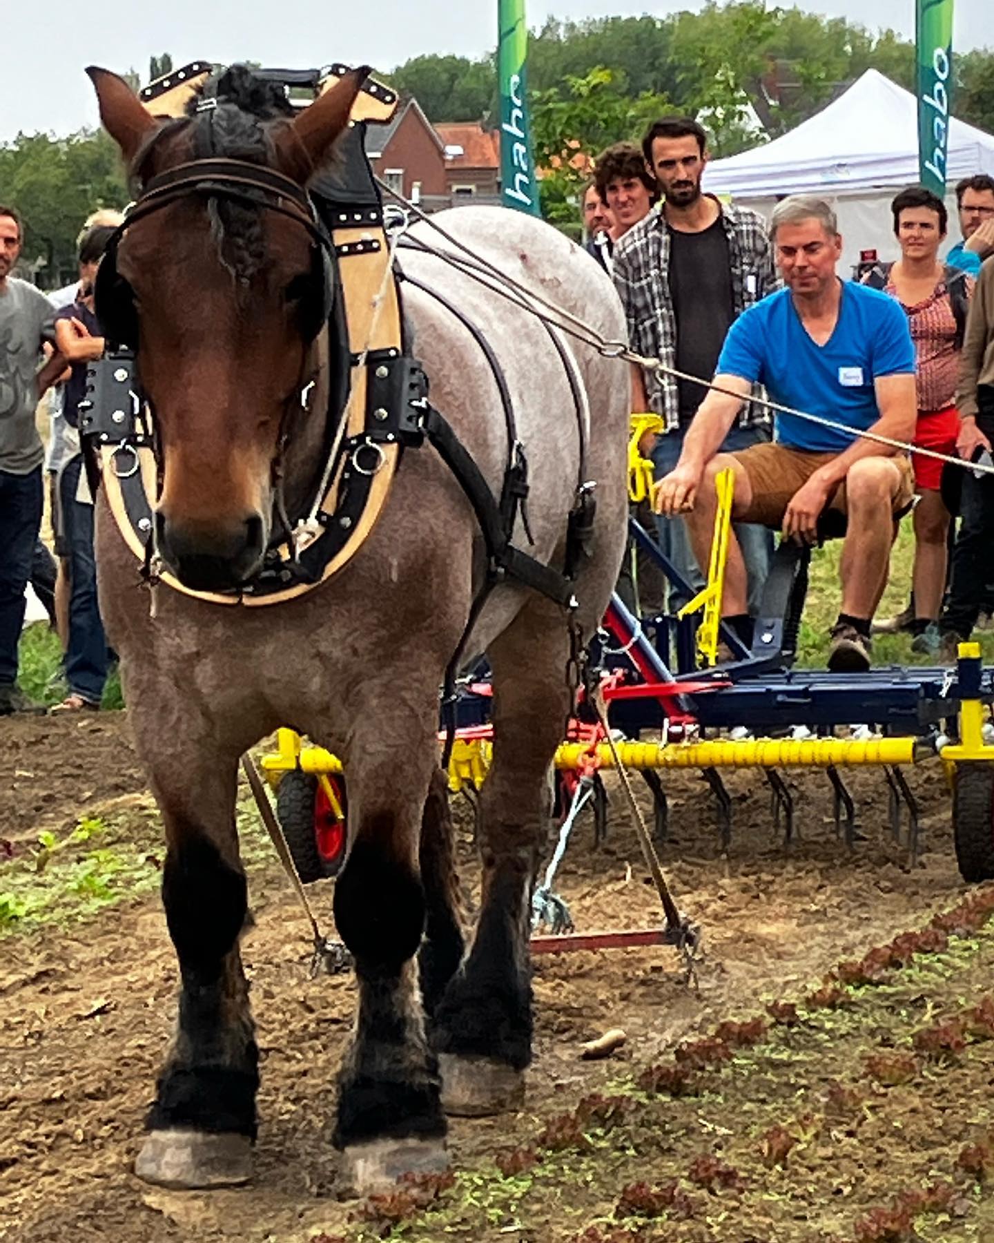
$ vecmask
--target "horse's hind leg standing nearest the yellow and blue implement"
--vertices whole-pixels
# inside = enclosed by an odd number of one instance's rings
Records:
[[[432,1022],[445,1109],[470,1116],[518,1109],[524,1099],[532,1059],[531,894],[548,840],[549,764],[570,702],[562,620],[557,626],[542,614],[521,614],[490,658],[493,763],[480,796],[480,917],[472,950]]]

